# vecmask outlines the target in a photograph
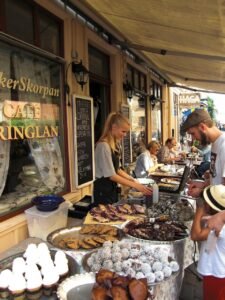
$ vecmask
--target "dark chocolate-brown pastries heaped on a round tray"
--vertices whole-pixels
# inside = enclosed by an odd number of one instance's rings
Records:
[[[158,219],[136,219],[124,227],[129,236],[151,241],[176,241],[188,236],[187,227],[180,222]]]

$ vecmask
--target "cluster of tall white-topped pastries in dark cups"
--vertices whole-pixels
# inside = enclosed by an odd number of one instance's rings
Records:
[[[74,273],[72,260],[62,250],[50,251],[45,243],[29,244],[24,253],[1,261],[0,298],[52,292],[61,279]]]

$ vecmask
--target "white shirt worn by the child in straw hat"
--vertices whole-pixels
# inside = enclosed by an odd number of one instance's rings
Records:
[[[220,231],[216,246],[211,252],[206,251],[206,241],[201,243],[197,270],[203,276],[225,278],[225,226]]]

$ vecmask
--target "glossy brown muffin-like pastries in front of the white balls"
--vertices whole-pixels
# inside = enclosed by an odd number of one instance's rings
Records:
[[[150,293],[146,279],[130,278],[101,269],[96,274],[91,299],[147,300],[150,299]]]

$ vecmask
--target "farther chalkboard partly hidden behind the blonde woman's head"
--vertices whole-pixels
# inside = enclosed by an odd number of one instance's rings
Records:
[[[130,107],[128,105],[121,106],[121,113],[130,120]],[[131,131],[123,138],[122,146],[122,164],[123,166],[126,166],[132,162]]]

